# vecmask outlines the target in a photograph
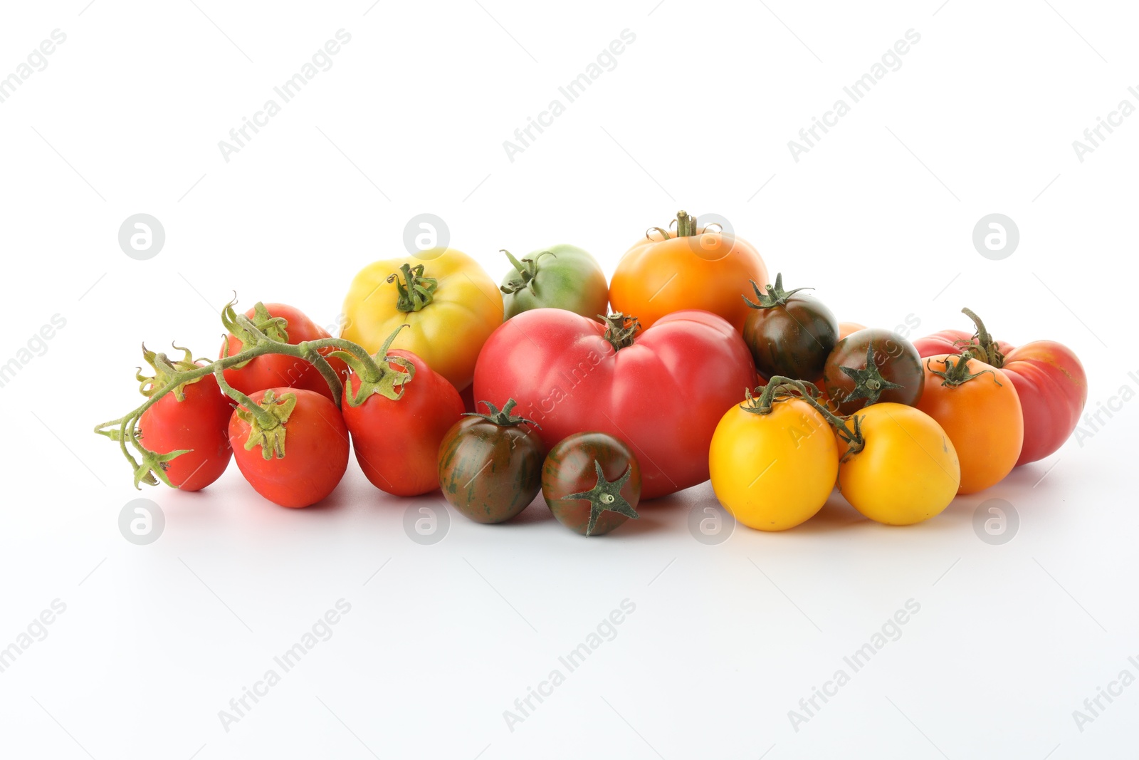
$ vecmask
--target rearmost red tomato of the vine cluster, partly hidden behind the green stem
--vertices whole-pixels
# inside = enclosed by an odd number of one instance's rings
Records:
[[[259,307],[263,311],[259,313]],[[305,341],[319,341],[331,337],[323,327],[309,319],[300,309],[287,307],[282,303],[265,303],[253,307],[245,312],[254,324],[263,321],[269,317],[281,317],[288,324],[285,327],[284,336],[272,330],[267,333],[269,337],[282,340],[285,343],[304,343]],[[219,356],[233,356],[241,352],[241,338],[230,333],[227,343],[222,346]],[[327,349],[321,353],[331,353],[335,349]],[[328,363],[333,366],[343,383],[349,375],[349,367],[343,360],[329,357]],[[226,382],[245,394],[256,391],[264,391],[270,387],[300,387],[305,391],[316,391],[329,401],[336,401],[333,392],[328,389],[328,383],[323,375],[309,361],[286,357],[279,353],[269,353],[255,357],[244,367],[232,367],[226,370]]]

